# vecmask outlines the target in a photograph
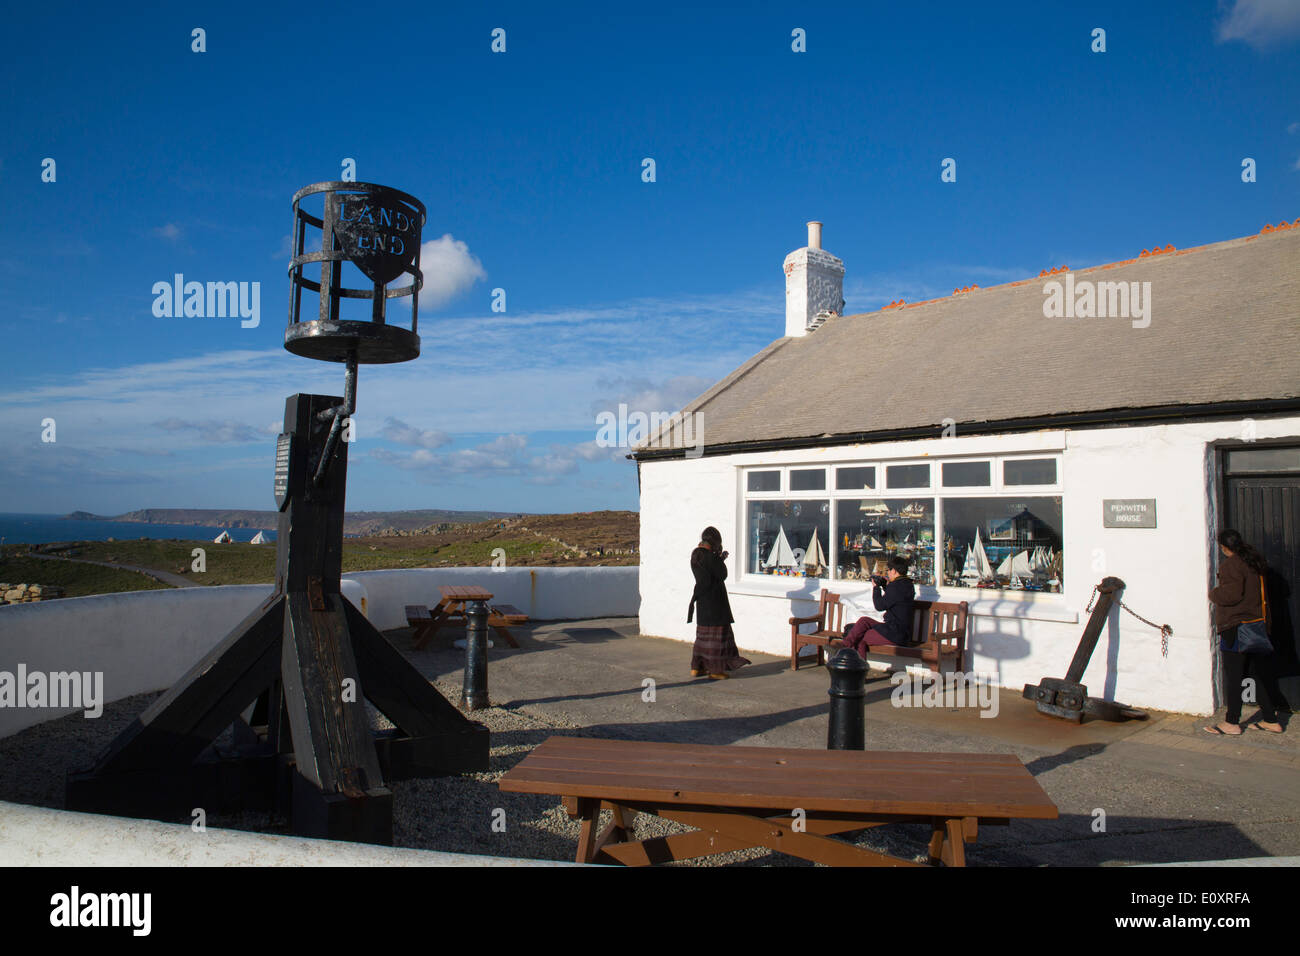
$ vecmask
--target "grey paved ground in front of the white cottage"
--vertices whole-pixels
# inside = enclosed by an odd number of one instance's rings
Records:
[[[489,653],[495,708],[619,739],[826,747],[829,682],[822,667],[792,672],[788,658],[746,653],[754,663],[732,680],[693,679],[689,645],[638,636],[634,618],[515,633],[519,650],[498,643]],[[410,631],[389,636],[429,676],[459,687],[464,652],[413,652]],[[646,678],[655,682],[654,702],[644,700]],[[874,672],[868,749],[1014,753],[1061,810],[1057,821],[984,829],[972,864],[1300,856],[1300,724],[1280,737],[1251,730],[1216,739],[1200,731],[1210,718],[1152,713],[1145,722],[1076,726],[1040,715],[1011,691],[1000,693],[994,718],[976,709],[898,708],[893,693]]]

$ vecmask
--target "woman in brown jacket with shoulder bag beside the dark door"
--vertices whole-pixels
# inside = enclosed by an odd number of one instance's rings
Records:
[[[1219,653],[1223,658],[1227,714],[1222,723],[1202,730],[1226,737],[1242,734],[1242,684],[1249,667],[1254,671],[1256,700],[1260,705],[1260,719],[1254,726],[1269,734],[1280,734],[1282,724],[1273,709],[1273,701],[1279,698],[1273,654],[1243,654],[1236,649],[1238,626],[1265,617],[1262,580],[1269,568],[1264,557],[1231,528],[1219,532],[1218,544],[1223,559],[1219,562],[1218,587],[1210,591],[1210,601],[1214,602],[1214,630],[1218,631]]]

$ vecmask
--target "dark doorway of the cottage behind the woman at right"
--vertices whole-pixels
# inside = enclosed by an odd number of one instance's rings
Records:
[[[1221,454],[1223,527],[1236,528],[1269,563],[1269,636],[1277,648],[1282,696],[1294,711],[1300,701],[1300,445],[1243,445]]]

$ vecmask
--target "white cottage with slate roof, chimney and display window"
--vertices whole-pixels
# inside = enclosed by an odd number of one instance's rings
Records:
[[[1235,527],[1273,568],[1296,705],[1300,220],[862,315],[838,315],[844,264],[810,224],[785,276],[785,336],[684,410],[702,453],[670,428],[633,455],[644,633],[693,640],[712,524],[742,649],[788,654],[823,587],[870,606],[866,574],[902,553],[918,597],[970,604],[968,669],[1018,689],[1065,675],[1114,575],[1174,633],[1162,656],[1119,611],[1089,693],[1206,714],[1214,535]]]

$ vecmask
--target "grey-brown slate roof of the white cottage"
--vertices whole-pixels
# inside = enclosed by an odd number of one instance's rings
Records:
[[[1148,328],[1124,317],[1044,317],[1044,285],[1065,274],[1040,274],[832,317],[776,339],[682,411],[701,414],[706,449],[716,453],[937,434],[945,419],[961,434],[963,424],[1300,398],[1300,220],[1166,248],[1072,273],[1076,289],[1150,282]]]

